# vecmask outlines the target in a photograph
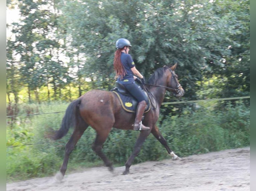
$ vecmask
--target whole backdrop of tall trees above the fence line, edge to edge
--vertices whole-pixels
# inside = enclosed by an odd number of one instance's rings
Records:
[[[82,95],[88,79],[90,88],[111,89],[119,38],[131,41],[146,79],[178,63],[185,99],[198,99],[208,91],[200,84],[212,79],[217,97],[250,92],[249,0],[22,0],[18,6],[23,17],[8,26],[15,36],[7,38],[8,101],[70,100],[71,88]]]

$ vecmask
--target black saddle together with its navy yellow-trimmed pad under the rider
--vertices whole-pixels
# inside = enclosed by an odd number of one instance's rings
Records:
[[[141,88],[141,87],[140,87]],[[137,106],[138,106],[138,101],[135,99],[126,89],[122,84],[119,84],[116,82],[116,87],[111,90],[113,93],[117,95],[117,97],[120,100],[120,103],[123,107],[123,109],[127,112],[136,112]],[[151,102],[148,98],[148,94],[146,91],[142,90],[144,94],[147,96],[147,107],[145,112],[148,112],[151,107]]]

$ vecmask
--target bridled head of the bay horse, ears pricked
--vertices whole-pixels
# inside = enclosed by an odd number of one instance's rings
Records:
[[[181,97],[184,95],[184,90],[180,83],[178,82],[178,76],[175,74],[174,70],[177,66],[177,63],[171,67],[168,67],[169,72],[167,73],[167,89],[171,91],[176,97]],[[167,66],[164,66],[167,67]]]

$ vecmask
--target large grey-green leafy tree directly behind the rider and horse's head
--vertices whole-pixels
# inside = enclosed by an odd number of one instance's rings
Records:
[[[237,3],[232,2],[227,4],[235,7]],[[225,67],[223,61],[232,56],[229,46],[239,46],[237,39],[231,38],[237,18],[228,17],[227,20],[224,17],[229,9],[214,11],[221,2],[106,0],[63,3],[65,7],[60,9],[65,15],[65,23],[72,23],[68,28],[72,40],[76,41],[74,45],[90,60],[89,66],[84,67],[85,72],[87,75],[97,73],[102,81],[114,77],[115,42],[125,37],[133,45],[130,53],[136,67],[146,78],[155,69],[177,62],[185,96],[197,99],[196,92],[201,87],[196,82],[202,81],[205,75],[219,74]],[[76,7],[75,13],[69,11],[72,6]],[[229,13],[231,16],[232,11]],[[248,15],[245,12],[245,16]]]

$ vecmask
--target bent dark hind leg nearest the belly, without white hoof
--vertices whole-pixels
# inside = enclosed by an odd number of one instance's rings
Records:
[[[96,139],[92,145],[94,152],[103,160],[104,164],[109,168],[110,171],[113,171],[112,162],[108,160],[106,155],[102,152],[103,143],[106,141],[108,134],[111,128],[104,127],[97,131]]]

